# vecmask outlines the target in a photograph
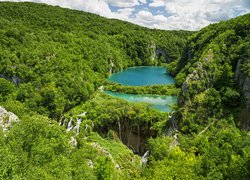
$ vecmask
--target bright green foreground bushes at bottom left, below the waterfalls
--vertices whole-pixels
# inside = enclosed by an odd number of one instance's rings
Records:
[[[106,140],[95,133],[88,137],[80,134],[75,147],[70,143],[71,138],[58,123],[40,115],[24,116],[5,136],[1,129],[0,179],[139,176],[139,157],[120,141]],[[134,162],[130,161],[131,158]],[[115,168],[116,163],[121,171]]]

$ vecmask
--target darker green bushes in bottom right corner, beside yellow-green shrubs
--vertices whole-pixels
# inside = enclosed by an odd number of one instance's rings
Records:
[[[196,174],[205,179],[247,179],[249,176],[249,135],[228,123],[216,122],[209,130],[193,137],[184,137],[180,143],[197,155]],[[240,164],[239,164],[240,162]]]

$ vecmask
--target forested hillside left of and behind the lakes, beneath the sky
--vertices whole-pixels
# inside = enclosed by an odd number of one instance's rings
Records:
[[[81,11],[0,3],[0,77],[16,99],[58,118],[91,98],[110,72],[178,59],[190,34],[157,31]]]

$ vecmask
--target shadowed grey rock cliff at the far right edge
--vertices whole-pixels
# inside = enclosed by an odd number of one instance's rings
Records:
[[[235,71],[235,80],[238,82],[244,98],[246,100],[246,107],[240,113],[240,122],[241,128],[249,129],[250,128],[250,77],[245,75],[241,71],[241,66],[244,65],[244,60],[239,60],[237,64],[237,68]]]

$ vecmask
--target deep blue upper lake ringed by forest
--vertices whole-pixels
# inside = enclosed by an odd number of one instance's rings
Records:
[[[140,66],[128,68],[112,74],[109,81],[129,86],[146,86],[157,84],[173,84],[174,78],[167,74],[166,68],[156,66]]]

